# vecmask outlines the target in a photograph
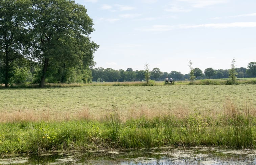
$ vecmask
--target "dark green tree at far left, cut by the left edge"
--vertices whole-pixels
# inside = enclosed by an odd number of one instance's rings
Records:
[[[0,70],[5,87],[13,76],[13,63],[24,57],[25,44],[29,40],[26,25],[30,5],[29,0],[2,0],[0,3]]]

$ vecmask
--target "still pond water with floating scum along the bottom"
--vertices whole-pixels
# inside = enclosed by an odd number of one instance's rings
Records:
[[[256,150],[155,148],[0,157],[0,165],[256,165]]]

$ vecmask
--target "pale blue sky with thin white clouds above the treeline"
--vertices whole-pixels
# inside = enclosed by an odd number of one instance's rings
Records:
[[[95,67],[188,74],[256,61],[256,0],[76,0],[99,45]]]

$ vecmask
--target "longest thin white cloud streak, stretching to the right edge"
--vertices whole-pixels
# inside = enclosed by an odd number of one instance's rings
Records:
[[[234,22],[234,23],[218,23],[218,24],[200,24],[200,25],[154,25],[149,28],[141,28],[141,31],[164,32],[174,29],[190,29],[190,28],[247,28],[256,27],[256,22]]]

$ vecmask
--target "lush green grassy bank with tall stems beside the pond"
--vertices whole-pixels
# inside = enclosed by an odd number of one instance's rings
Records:
[[[217,118],[193,113],[183,118],[165,115],[122,121],[113,109],[101,121],[9,122],[0,124],[0,153],[40,153],[49,150],[152,148],[164,146],[256,147],[255,116],[251,109],[225,107]]]

